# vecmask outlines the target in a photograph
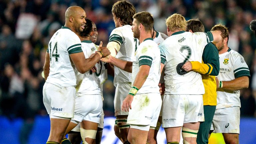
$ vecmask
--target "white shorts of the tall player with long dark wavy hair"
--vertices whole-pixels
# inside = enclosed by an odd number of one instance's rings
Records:
[[[128,112],[122,111],[121,107],[132,85],[130,83],[118,83],[114,97],[115,116],[128,115]]]

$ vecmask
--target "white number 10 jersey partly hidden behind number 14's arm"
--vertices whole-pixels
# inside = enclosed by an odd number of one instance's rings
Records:
[[[82,50],[84,51],[85,58],[89,58],[91,54],[98,50],[92,41],[82,41]],[[76,72],[77,74],[77,93],[81,94],[101,94],[103,83],[107,80],[107,69],[105,62],[96,63],[97,71],[93,73],[91,70],[84,74]]]

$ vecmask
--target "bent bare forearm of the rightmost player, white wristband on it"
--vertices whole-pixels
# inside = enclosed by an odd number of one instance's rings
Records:
[[[249,86],[248,76],[238,77],[231,81],[219,81],[217,77],[215,79],[216,79],[217,89],[221,88],[225,90],[235,91],[243,88],[248,88]]]

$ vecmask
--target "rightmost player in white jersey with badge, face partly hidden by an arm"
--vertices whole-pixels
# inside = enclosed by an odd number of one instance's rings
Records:
[[[221,32],[222,36],[222,40],[216,44],[220,73],[216,78],[217,106],[212,121],[214,132],[222,133],[225,143],[238,144],[241,107],[239,90],[248,88],[250,71],[243,56],[228,47],[227,27],[217,24],[211,31]]]

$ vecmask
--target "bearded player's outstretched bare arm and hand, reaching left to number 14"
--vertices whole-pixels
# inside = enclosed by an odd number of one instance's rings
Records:
[[[127,71],[129,73],[132,72],[132,62],[124,61],[124,60],[112,57],[111,55],[109,55],[106,58],[102,58],[100,60],[103,62],[106,62],[106,63],[110,63],[110,64],[112,64],[124,71]]]

